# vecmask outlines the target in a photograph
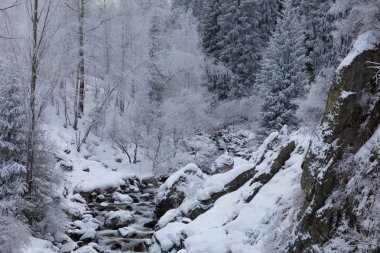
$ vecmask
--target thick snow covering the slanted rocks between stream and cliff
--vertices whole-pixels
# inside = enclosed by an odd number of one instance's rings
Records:
[[[159,227],[162,228],[155,233],[161,249],[170,251],[181,238],[184,252],[187,253],[262,253],[273,252],[270,247],[275,247],[276,243],[286,245],[279,242],[288,239],[284,239],[283,230],[295,225],[294,219],[304,199],[300,185],[301,165],[310,144],[310,136],[300,132],[292,135],[285,132],[272,134],[254,152],[259,159],[235,160],[232,170],[211,176],[204,182],[197,193],[197,200],[185,199],[179,208],[168,211],[159,221]],[[281,147],[291,141],[296,143],[295,151],[283,169],[268,183],[263,185],[253,182],[252,178],[236,191],[218,198],[208,211],[186,222],[188,224],[173,221],[183,213],[184,206],[199,204],[200,199],[207,199],[213,192],[223,190],[228,182],[248,169],[256,168],[258,174],[267,173]],[[269,144],[272,145],[270,149],[267,148]],[[257,194],[247,202],[253,192]],[[275,238],[276,241],[272,242]]]

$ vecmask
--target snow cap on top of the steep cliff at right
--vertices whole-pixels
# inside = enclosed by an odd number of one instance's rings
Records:
[[[369,30],[358,36],[352,46],[350,53],[344,58],[337,68],[337,73],[349,66],[356,57],[367,50],[373,50],[379,44],[380,32],[378,30]]]

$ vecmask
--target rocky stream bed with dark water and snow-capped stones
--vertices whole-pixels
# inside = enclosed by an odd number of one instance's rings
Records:
[[[157,223],[158,184],[153,179],[130,178],[116,189],[75,193],[72,201],[86,210],[69,215],[72,222],[66,234],[71,240],[61,245],[61,252],[148,252]]]

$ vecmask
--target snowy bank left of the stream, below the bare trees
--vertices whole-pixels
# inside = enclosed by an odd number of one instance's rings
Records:
[[[82,121],[89,119],[85,116]],[[44,128],[50,135],[51,141],[58,150],[55,154],[60,164],[72,166],[72,171],[66,172],[67,187],[76,192],[91,192],[95,189],[117,188],[125,183],[124,179],[138,177],[140,179],[151,177],[151,163],[143,159],[141,163],[130,164],[128,159],[121,163],[117,158],[125,157],[120,150],[115,148],[111,141],[90,134],[87,143],[80,152],[77,152],[75,130],[72,127],[64,128],[63,119],[51,113],[51,118],[46,119]],[[86,124],[80,125],[85,132]],[[99,145],[101,143],[101,145]],[[65,151],[65,152],[63,152]],[[67,154],[67,153],[68,154]],[[89,172],[84,170],[89,169]]]

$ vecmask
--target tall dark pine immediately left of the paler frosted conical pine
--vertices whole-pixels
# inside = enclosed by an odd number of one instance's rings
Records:
[[[247,0],[224,1],[221,7],[220,60],[233,73],[234,97],[250,93],[258,70],[261,43],[256,9],[255,3]]]

